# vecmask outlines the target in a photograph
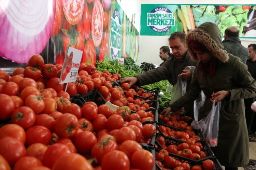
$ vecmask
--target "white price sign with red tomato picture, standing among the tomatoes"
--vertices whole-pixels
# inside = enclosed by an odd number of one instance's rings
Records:
[[[59,84],[75,82],[83,51],[69,47],[65,56]]]

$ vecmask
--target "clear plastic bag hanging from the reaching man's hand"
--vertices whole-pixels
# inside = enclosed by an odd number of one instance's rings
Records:
[[[170,104],[175,102],[180,97],[184,96],[186,92],[186,88],[187,88],[187,80],[186,79],[182,80],[181,77],[178,77],[177,83],[172,87]]]

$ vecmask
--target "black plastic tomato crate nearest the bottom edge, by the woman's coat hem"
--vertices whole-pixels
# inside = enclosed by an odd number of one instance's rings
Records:
[[[159,152],[159,150],[160,149],[155,148],[154,153],[156,154],[157,152]],[[190,168],[194,165],[202,166],[204,160],[210,159],[215,164],[215,169],[214,170],[224,170],[222,168],[221,164],[219,163],[218,159],[215,156],[206,157],[206,158],[203,158],[203,159],[200,159],[200,160],[193,160],[193,159],[185,158],[183,156],[175,155],[175,154],[172,154],[172,153],[169,153],[169,156],[174,157],[176,160],[179,160],[181,163],[188,163],[190,165]],[[161,170],[161,168],[158,165],[156,165],[156,169]]]

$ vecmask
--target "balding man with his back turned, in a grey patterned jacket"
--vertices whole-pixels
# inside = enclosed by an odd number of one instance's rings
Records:
[[[222,41],[224,49],[239,58],[246,64],[249,51],[242,44],[239,37],[239,30],[237,27],[231,26],[225,30],[224,40]]]

